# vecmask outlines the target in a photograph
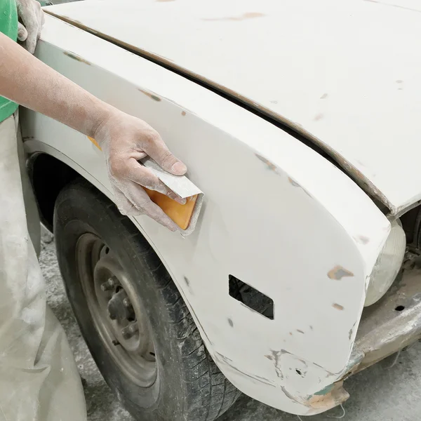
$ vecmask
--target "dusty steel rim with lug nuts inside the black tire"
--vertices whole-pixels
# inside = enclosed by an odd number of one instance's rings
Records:
[[[80,236],[76,267],[88,309],[107,352],[141,387],[157,376],[154,341],[145,308],[115,253],[95,234]]]

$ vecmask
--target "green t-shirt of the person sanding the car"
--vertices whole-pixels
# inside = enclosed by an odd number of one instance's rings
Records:
[[[18,39],[18,11],[15,0],[0,0],[0,32],[16,41]],[[0,97],[0,122],[10,117],[18,104]]]

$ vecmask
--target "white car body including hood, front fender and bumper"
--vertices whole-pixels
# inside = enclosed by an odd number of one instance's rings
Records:
[[[421,200],[414,1],[87,1],[46,12],[37,57],[150,123],[205,194],[190,236],[133,223],[234,386],[320,413],[347,399],[347,375],[420,338],[413,266],[363,307],[391,222]],[[113,199],[85,135],[33,112],[22,128],[29,154]],[[48,225],[54,197],[37,196]],[[404,216],[408,234],[416,224]],[[230,279],[272,300],[273,316],[230,295]]]

